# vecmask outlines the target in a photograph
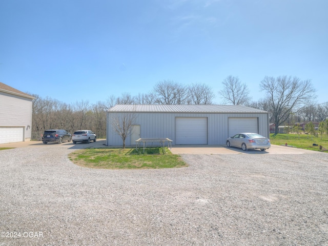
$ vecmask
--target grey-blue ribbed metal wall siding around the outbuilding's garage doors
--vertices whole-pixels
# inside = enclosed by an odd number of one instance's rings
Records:
[[[113,130],[110,123],[110,115],[120,114],[108,111],[107,120],[107,145],[121,146],[122,139]],[[173,140],[175,145],[175,117],[207,117],[208,118],[208,144],[224,145],[228,136],[229,117],[258,117],[259,134],[269,137],[268,114],[257,113],[135,113],[137,114],[135,125],[140,125],[140,137],[159,138],[167,137]],[[129,145],[131,137],[126,139]]]

